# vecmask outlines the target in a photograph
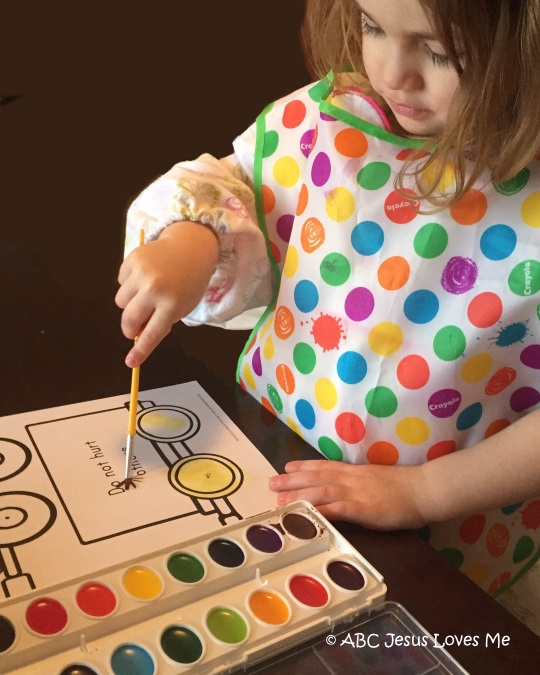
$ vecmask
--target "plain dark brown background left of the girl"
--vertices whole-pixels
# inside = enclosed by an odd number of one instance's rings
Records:
[[[177,161],[229,154],[267,103],[310,81],[303,10],[301,0],[0,3],[0,94],[23,94],[0,108],[0,397],[21,377],[6,351],[14,335],[24,340],[36,318],[50,335],[113,305],[138,192]],[[76,319],[65,313],[73,299]],[[182,334],[219,375],[215,330]],[[221,349],[243,340],[220,336]],[[26,352],[43,368],[34,342]]]

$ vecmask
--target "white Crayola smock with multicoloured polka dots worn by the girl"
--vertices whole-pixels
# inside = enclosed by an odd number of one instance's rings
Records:
[[[345,94],[334,116],[318,95],[266,115],[261,194],[283,276],[242,384],[329,459],[419,464],[474,445],[540,403],[540,162],[420,215],[394,189],[407,151],[340,120],[369,104]],[[439,187],[453,183],[449,163]],[[458,527],[447,557],[464,564],[478,527]],[[490,559],[515,567],[537,548],[534,529],[490,528]]]

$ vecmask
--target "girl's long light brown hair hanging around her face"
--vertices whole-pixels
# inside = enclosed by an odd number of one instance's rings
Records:
[[[463,197],[486,169],[495,183],[514,177],[540,148],[540,2],[419,2],[460,79],[445,128],[411,154],[396,186],[403,190],[404,178],[412,172],[419,199],[440,210]],[[302,41],[307,66],[317,79],[348,64],[358,86],[377,98],[362,63],[356,0],[306,0]],[[420,160],[426,150],[430,154]],[[449,161],[455,189],[443,194],[437,185]],[[428,167],[426,184],[420,173]]]

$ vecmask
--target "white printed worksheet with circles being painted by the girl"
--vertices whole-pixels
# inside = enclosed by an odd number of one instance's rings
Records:
[[[0,603],[275,508],[272,466],[197,382],[0,418]]]

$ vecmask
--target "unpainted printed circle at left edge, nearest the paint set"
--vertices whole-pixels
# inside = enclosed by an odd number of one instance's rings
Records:
[[[56,520],[56,506],[34,492],[0,493],[0,547],[33,541]]]

